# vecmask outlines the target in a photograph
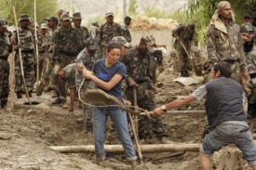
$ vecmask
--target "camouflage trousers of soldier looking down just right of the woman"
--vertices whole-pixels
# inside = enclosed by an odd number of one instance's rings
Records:
[[[140,84],[136,91],[138,107],[143,110],[154,111],[156,104],[153,91],[145,84]],[[131,87],[125,89],[125,95],[131,103],[134,103],[133,89]],[[151,132],[153,132],[157,138],[168,136],[160,118],[156,118],[155,121],[152,121],[146,116],[139,116],[138,126],[139,137],[141,139],[150,136]]]

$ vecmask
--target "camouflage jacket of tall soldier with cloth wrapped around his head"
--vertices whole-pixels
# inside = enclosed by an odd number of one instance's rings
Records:
[[[227,33],[209,25],[207,30],[208,58],[212,63],[218,60],[237,60],[241,72],[247,72],[247,64],[241,40],[240,28],[236,24],[226,27]]]

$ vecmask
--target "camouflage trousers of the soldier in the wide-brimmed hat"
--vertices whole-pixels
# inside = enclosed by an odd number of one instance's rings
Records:
[[[32,53],[21,52],[21,59],[22,59],[25,83],[27,85],[28,91],[32,92],[34,87],[34,81],[35,81],[34,52]],[[23,80],[22,80],[21,68],[20,68],[20,57],[18,52],[15,55],[15,78],[16,78],[15,92],[16,93],[24,92]]]

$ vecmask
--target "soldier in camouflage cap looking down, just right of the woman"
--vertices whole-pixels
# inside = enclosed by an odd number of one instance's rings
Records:
[[[128,49],[123,58],[123,63],[127,66],[128,75],[126,77],[128,87],[125,95],[131,103],[134,103],[133,88],[137,91],[138,106],[147,111],[153,111],[156,107],[154,93],[158,90],[153,84],[149,68],[150,56],[148,52],[155,46],[155,37],[151,34],[143,35],[139,46]],[[139,137],[146,139],[150,135],[150,130],[162,143],[170,143],[164,124],[160,119],[152,122],[145,116],[139,120]]]

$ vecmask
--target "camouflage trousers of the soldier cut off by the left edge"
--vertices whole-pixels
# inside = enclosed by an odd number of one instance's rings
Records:
[[[7,102],[9,94],[9,62],[7,59],[0,58],[0,103]]]

